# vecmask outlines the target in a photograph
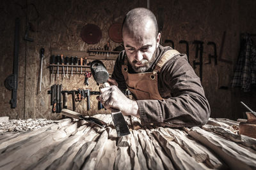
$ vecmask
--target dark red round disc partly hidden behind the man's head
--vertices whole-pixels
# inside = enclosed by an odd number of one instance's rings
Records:
[[[122,24],[115,23],[109,27],[108,30],[109,38],[115,43],[122,43]]]

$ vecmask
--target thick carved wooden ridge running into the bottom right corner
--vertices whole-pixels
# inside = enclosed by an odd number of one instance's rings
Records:
[[[256,154],[248,152],[248,150],[237,145],[237,143],[221,138],[212,132],[204,131],[204,129],[199,127],[192,127],[188,134],[211,148],[231,169],[256,168]]]

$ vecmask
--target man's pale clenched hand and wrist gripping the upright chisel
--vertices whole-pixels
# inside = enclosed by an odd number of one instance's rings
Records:
[[[104,108],[115,108],[124,115],[140,117],[136,101],[128,99],[115,85],[100,89],[100,93],[100,96],[97,96],[97,100],[103,104]]]

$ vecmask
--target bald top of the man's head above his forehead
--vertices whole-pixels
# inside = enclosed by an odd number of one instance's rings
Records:
[[[129,34],[140,34],[144,29],[150,28],[154,34],[158,34],[156,16],[147,8],[134,8],[125,15],[122,31],[128,31]]]

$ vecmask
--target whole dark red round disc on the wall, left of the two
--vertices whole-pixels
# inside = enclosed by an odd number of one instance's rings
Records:
[[[100,27],[95,24],[87,24],[81,30],[81,38],[88,44],[96,44],[102,38]]]

